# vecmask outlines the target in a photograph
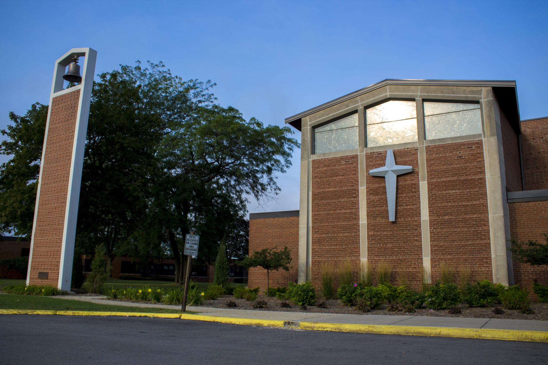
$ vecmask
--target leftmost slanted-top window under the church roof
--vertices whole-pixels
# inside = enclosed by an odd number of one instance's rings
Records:
[[[358,148],[358,114],[332,121],[314,129],[314,153]]]

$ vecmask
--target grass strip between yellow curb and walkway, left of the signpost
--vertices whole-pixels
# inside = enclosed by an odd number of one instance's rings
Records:
[[[41,296],[0,294],[0,309],[32,310],[84,310],[99,312],[180,313],[180,309],[144,308],[136,306],[108,305]],[[186,311],[187,313],[195,313]]]

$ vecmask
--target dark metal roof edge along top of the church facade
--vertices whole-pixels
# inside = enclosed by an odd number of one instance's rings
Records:
[[[427,80],[427,79],[384,79],[376,84],[366,86],[363,89],[359,89],[338,97],[332,101],[328,101],[316,107],[310,108],[304,112],[292,115],[292,117],[284,119],[286,124],[306,117],[312,113],[319,112],[330,106],[338,103],[350,100],[353,97],[366,94],[366,92],[373,91],[378,88],[382,88],[385,85],[428,85],[428,86],[497,86],[497,87],[516,87],[516,80]]]

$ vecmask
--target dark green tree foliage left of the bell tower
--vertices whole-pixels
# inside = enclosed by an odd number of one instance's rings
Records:
[[[9,139],[0,144],[0,154],[12,158],[0,165],[0,231],[29,241],[47,118],[48,106],[34,103],[22,117],[10,112],[13,124],[2,130]]]

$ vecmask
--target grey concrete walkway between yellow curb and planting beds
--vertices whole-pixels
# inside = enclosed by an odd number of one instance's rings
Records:
[[[108,300],[105,297],[77,297],[58,296],[56,298],[83,300],[97,304],[112,304],[122,306],[136,306],[149,308],[180,309],[180,305],[129,303]],[[229,308],[206,308],[187,306],[187,310],[199,312],[198,315],[249,318],[256,320],[281,320],[289,322],[316,322],[316,323],[346,323],[356,325],[384,325],[384,326],[421,326],[421,327],[453,327],[453,328],[482,328],[482,329],[511,329],[517,331],[548,332],[548,321],[537,320],[505,320],[499,318],[460,318],[460,317],[428,317],[404,315],[359,315],[359,314],[329,314],[306,312],[282,312],[267,310],[243,310]]]

